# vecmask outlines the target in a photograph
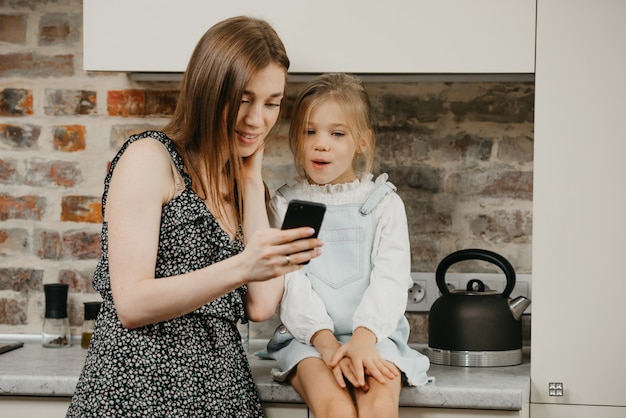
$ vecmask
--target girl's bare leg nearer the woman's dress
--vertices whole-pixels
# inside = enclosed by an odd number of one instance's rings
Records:
[[[302,360],[290,379],[315,418],[356,418],[356,407],[348,389],[337,384],[326,363],[319,358]],[[399,391],[398,391],[399,393]],[[381,417],[383,415],[380,415]]]

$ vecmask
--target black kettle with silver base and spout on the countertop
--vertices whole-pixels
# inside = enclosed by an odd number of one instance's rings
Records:
[[[506,276],[502,293],[486,290],[482,281],[470,280],[465,290],[450,291],[445,274],[465,260],[488,261]],[[441,296],[428,317],[428,354],[437,364],[455,366],[505,366],[522,359],[522,322],[530,300],[509,296],[515,287],[515,270],[499,254],[481,249],[456,251],[445,257],[436,271]]]

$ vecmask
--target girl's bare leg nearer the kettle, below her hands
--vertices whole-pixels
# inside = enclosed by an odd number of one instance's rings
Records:
[[[363,392],[355,389],[354,398],[356,401],[359,418],[397,418],[400,407],[400,390],[402,389],[402,378],[398,375],[395,379],[386,383],[366,376],[369,390]]]

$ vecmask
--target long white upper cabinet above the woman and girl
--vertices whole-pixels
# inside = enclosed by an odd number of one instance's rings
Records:
[[[536,0],[84,0],[88,71],[183,72],[202,34],[270,22],[291,73],[534,73]]]

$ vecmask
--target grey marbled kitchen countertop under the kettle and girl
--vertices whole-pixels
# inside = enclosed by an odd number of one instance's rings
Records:
[[[43,348],[38,337],[10,335],[0,339],[25,342],[22,348],[0,354],[0,395],[72,396],[87,354],[80,342],[73,341],[69,348]],[[263,340],[250,342],[251,352],[262,348]],[[290,385],[272,380],[270,370],[276,367],[273,360],[252,353],[248,358],[261,401],[303,403]],[[530,361],[526,350],[518,366],[433,364],[428,374],[435,377],[435,382],[403,388],[401,406],[521,410],[529,402]]]

